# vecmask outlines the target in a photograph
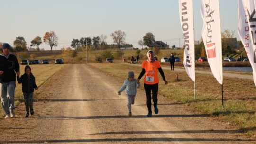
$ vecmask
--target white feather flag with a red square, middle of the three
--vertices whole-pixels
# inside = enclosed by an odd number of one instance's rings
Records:
[[[203,19],[202,39],[211,72],[222,84],[222,46],[219,18],[219,0],[201,0]]]

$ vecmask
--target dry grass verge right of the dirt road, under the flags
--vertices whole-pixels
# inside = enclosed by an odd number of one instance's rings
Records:
[[[127,77],[128,71],[134,71],[137,78],[141,68],[117,63],[93,63],[94,68],[107,72],[118,78]],[[176,81],[176,74],[179,81]],[[161,76],[159,74],[160,80]],[[194,82],[186,72],[165,70],[167,86],[159,83],[158,93],[177,102],[184,103],[198,113],[209,114],[221,121],[229,122],[247,136],[256,138],[256,88],[253,80],[223,79],[224,108],[221,104],[221,85],[210,74],[196,74],[196,100],[194,99]],[[140,88],[143,90],[143,85]]]

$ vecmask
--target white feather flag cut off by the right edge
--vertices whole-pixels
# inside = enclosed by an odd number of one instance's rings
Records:
[[[256,86],[256,0],[238,0],[238,34],[253,69]]]

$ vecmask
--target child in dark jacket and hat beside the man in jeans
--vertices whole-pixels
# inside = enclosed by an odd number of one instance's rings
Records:
[[[30,114],[34,114],[33,109],[33,93],[34,89],[37,90],[37,84],[35,76],[31,72],[31,68],[29,65],[25,66],[25,73],[19,78],[19,74],[17,75],[18,83],[22,83],[22,92],[23,92],[23,99],[26,107],[26,116],[29,116],[29,109]]]

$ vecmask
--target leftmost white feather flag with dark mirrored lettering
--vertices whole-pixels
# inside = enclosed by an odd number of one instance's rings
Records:
[[[195,81],[193,0],[179,0],[180,21],[185,40],[184,60],[188,76]]]

